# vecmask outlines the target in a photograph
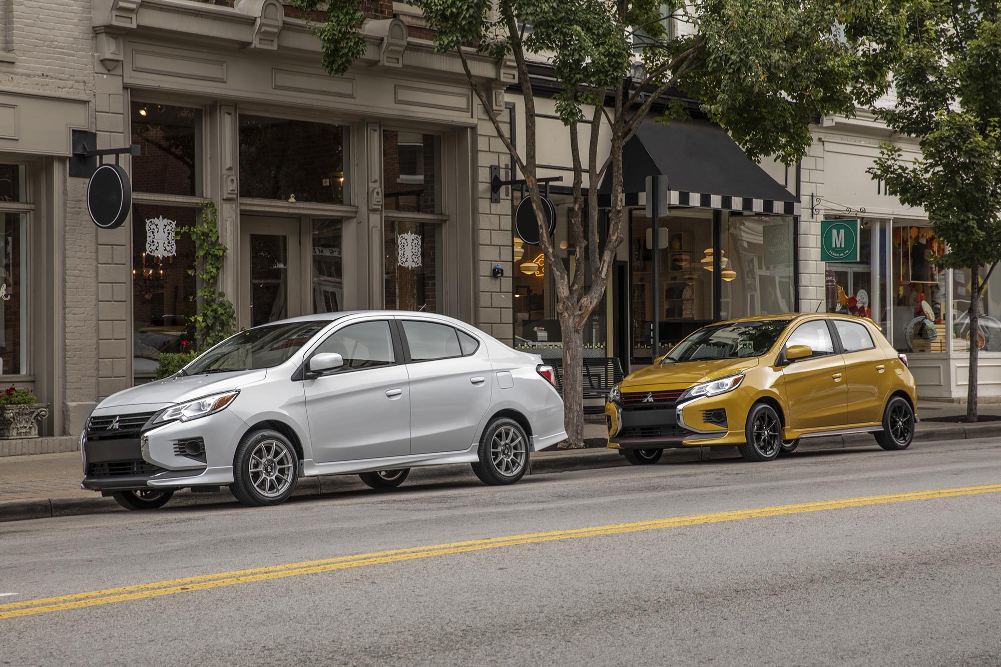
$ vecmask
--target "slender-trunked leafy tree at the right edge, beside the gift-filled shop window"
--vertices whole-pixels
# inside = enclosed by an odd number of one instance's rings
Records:
[[[919,137],[922,158],[907,165],[884,143],[869,171],[928,213],[946,242],[936,263],[970,269],[966,420],[976,422],[980,299],[1001,260],[1001,6],[907,0],[896,23],[899,32],[880,45],[897,61],[896,102],[874,111],[893,131]]]

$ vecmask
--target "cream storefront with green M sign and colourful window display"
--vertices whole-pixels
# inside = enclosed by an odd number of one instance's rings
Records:
[[[979,394],[1001,395],[1001,272],[994,271],[980,303],[980,330],[971,337],[969,269],[941,269],[945,250],[927,215],[904,206],[867,172],[885,128],[864,114],[828,119],[815,132],[815,154],[804,169],[804,216],[813,222],[801,264],[803,280],[819,285],[814,308],[872,317],[908,357],[918,395],[963,399],[971,339],[980,346]],[[920,155],[916,141],[893,138],[904,160]],[[844,222],[835,222],[843,220]],[[819,260],[819,261],[817,261]],[[981,270],[981,276],[987,269]]]

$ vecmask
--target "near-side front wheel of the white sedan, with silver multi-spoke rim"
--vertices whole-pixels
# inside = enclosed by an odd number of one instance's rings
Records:
[[[299,457],[287,438],[270,429],[251,431],[233,456],[229,490],[247,507],[278,505],[295,491],[298,472]]]

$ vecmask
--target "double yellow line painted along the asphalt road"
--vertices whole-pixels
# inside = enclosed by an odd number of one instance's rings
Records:
[[[682,526],[696,526],[699,524],[716,524],[727,521],[740,521],[742,519],[778,517],[790,514],[803,514],[806,512],[823,512],[827,510],[840,510],[850,507],[884,505],[887,503],[905,503],[918,500],[935,500],[939,498],[974,496],[978,494],[991,494],[998,492],[1001,492],[1001,484],[990,484],[979,487],[961,487],[957,489],[936,489],[932,491],[915,491],[906,494],[865,496],[862,498],[846,498],[841,500],[820,501],[816,503],[763,507],[754,510],[736,510],[732,512],[717,512],[714,514],[697,514],[686,517],[673,517],[670,519],[638,521],[629,524],[610,524],[607,526],[595,526],[592,528],[550,531],[548,533],[511,535],[508,537],[489,538],[485,540],[469,540],[466,542],[438,544],[429,547],[394,549],[391,551],[380,551],[370,554],[340,556],[337,558],[327,558],[317,561],[288,563],[286,565],[272,565],[263,568],[237,570],[235,572],[221,572],[218,574],[201,575],[198,577],[171,579],[152,584],[123,586],[121,588],[106,588],[100,591],[90,591],[89,593],[74,593],[71,595],[61,595],[51,598],[40,598],[38,600],[13,602],[0,605],[0,619],[31,616],[34,614],[47,614],[49,612],[63,611],[66,609],[94,607],[97,605],[127,602],[129,600],[141,600],[144,598],[155,598],[162,595],[174,595],[176,593],[187,593],[190,591],[201,591],[211,588],[220,588],[223,586],[234,586],[236,584],[250,584],[253,582],[270,581],[273,579],[284,579],[285,577],[297,577],[299,575],[316,574],[319,572],[333,572],[334,570],[346,570],[348,568],[359,568],[368,565],[398,563],[400,561],[412,561],[418,558],[431,558],[434,556],[463,554],[473,551],[483,551],[486,549],[514,547],[522,544],[540,544],[543,542],[574,540],[578,538],[597,537],[600,535],[619,535],[623,533],[637,533],[640,531],[659,530],[663,528],[679,528]]]

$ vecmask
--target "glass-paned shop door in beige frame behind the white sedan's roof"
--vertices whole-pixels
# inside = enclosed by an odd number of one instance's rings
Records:
[[[299,219],[240,218],[239,325],[303,314]]]

